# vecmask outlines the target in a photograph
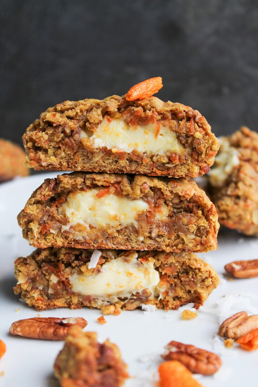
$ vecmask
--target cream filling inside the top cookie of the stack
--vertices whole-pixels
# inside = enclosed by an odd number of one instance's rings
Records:
[[[147,125],[128,125],[123,118],[114,118],[108,122],[105,117],[96,131],[81,132],[81,137],[89,137],[95,148],[107,147],[113,152],[164,153],[164,151],[183,154],[185,148],[178,141],[176,134],[169,126],[160,127],[157,123]]]

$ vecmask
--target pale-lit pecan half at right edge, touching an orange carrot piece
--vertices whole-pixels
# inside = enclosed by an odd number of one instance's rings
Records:
[[[238,312],[222,322],[219,336],[237,340],[256,328],[258,328],[258,315],[248,317],[247,312]]]

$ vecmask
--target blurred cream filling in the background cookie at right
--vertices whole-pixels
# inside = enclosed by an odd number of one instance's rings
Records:
[[[239,164],[237,149],[229,145],[226,137],[219,138],[220,149],[215,157],[214,167],[210,170],[210,183],[214,187],[223,185],[233,168]]]

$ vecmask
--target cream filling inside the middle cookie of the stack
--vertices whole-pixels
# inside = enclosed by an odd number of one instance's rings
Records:
[[[137,227],[137,214],[149,209],[149,205],[142,199],[108,194],[103,197],[96,195],[103,188],[92,188],[84,192],[73,192],[67,196],[60,209],[70,224],[91,224],[103,228],[107,224],[115,228],[126,226]]]

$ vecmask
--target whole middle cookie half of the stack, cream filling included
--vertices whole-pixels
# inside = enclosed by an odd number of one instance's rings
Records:
[[[214,204],[195,182],[74,172],[46,179],[18,215],[34,247],[205,252],[217,248]]]

